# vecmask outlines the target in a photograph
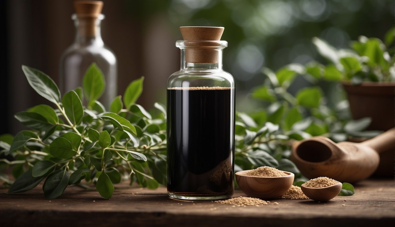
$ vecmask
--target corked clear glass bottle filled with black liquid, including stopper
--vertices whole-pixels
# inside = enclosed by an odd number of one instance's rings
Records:
[[[181,69],[167,81],[167,192],[178,199],[228,198],[234,190],[235,83],[222,69],[224,28],[180,29],[186,39],[176,42]]]

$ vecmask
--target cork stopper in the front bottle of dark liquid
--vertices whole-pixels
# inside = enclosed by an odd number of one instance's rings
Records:
[[[216,42],[221,39],[224,27],[180,27],[186,41],[185,60],[191,63],[218,63]],[[199,42],[200,41],[200,42]]]

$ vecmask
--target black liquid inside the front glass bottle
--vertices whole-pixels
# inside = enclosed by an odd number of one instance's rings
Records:
[[[233,194],[234,90],[167,90],[167,191]]]

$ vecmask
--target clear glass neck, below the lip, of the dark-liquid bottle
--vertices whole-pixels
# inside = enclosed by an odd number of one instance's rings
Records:
[[[181,48],[181,70],[222,71],[222,50],[222,48],[209,50],[201,48]],[[197,54],[204,56],[204,58],[199,59],[194,56]]]

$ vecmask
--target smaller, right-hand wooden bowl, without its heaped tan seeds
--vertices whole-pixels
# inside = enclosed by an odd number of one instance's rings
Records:
[[[339,195],[340,191],[342,190],[342,183],[334,184],[324,188],[309,188],[306,187],[305,184],[302,184],[300,187],[302,192],[310,199],[314,201],[326,202]]]

